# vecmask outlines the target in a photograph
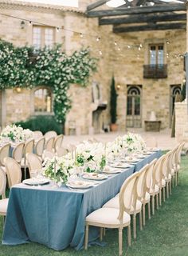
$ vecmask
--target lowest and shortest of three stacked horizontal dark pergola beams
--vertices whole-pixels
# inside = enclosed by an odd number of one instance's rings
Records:
[[[113,27],[114,33],[127,33],[148,30],[178,30],[186,29],[186,23],[166,23],[166,24],[148,24],[144,26],[120,26]]]

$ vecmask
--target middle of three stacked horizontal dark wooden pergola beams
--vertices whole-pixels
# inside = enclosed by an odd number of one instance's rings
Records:
[[[99,25],[119,25],[144,22],[175,22],[186,21],[186,14],[147,14],[131,15],[123,18],[100,18]]]

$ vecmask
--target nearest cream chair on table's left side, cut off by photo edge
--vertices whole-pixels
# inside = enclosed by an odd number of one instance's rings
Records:
[[[2,167],[0,167],[0,215],[6,216],[6,210],[8,206],[9,199],[6,198],[6,174]]]

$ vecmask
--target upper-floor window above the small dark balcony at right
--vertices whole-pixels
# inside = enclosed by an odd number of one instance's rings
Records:
[[[150,65],[164,64],[164,47],[163,44],[151,45],[149,53]]]

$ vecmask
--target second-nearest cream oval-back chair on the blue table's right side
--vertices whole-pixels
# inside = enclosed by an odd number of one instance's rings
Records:
[[[143,185],[144,185],[144,178],[145,178],[145,171],[147,170],[148,165],[143,166],[141,170],[139,170],[138,175],[138,181],[136,186],[136,197],[132,201],[131,209],[127,212],[127,214],[133,215],[133,237],[136,238],[136,214],[139,214],[139,228],[140,230],[143,229],[142,224],[142,198],[143,198]],[[146,192],[146,191],[145,191]],[[146,194],[146,193],[145,193]],[[108,208],[119,208],[119,197],[114,197],[110,199],[108,202],[104,204],[103,207]]]

